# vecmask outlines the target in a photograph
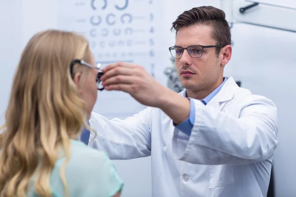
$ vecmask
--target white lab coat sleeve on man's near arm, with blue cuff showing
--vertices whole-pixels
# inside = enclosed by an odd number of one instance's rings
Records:
[[[194,100],[195,120],[190,136],[175,129],[173,151],[192,164],[250,164],[274,154],[277,109],[260,96],[247,96],[239,117],[230,116]]]

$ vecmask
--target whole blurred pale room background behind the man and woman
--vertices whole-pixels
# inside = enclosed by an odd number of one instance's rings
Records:
[[[231,26],[233,54],[224,76],[278,107],[279,145],[269,197],[296,197],[296,0],[0,0],[0,122],[15,68],[28,40],[46,29],[84,34],[102,66],[144,66],[161,84],[182,90],[168,48],[172,22],[202,5],[222,8]],[[246,6],[254,5],[249,9]],[[99,92],[94,111],[125,118],[144,109],[129,95]],[[98,131],[99,132],[99,131]],[[114,161],[125,182],[122,197],[151,197],[150,158]]]

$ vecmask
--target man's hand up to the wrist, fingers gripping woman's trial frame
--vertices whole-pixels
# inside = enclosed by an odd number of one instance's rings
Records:
[[[161,105],[167,88],[158,83],[142,66],[118,62],[103,68],[102,85],[106,90],[129,93],[140,103],[152,107]]]

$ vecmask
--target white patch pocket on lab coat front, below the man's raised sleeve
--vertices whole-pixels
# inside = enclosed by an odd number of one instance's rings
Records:
[[[232,165],[210,165],[210,184],[209,188],[225,186],[234,182]]]

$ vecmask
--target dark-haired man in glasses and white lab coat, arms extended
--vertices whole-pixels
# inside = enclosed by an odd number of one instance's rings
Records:
[[[92,113],[89,146],[111,159],[151,155],[153,197],[266,197],[278,144],[277,109],[265,97],[223,77],[231,58],[230,30],[222,10],[192,8],[173,23],[180,94],[142,66],[103,68],[105,89],[148,105],[125,120]]]

